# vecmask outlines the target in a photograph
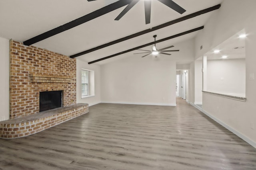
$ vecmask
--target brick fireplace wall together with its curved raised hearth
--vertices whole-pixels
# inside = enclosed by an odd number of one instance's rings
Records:
[[[40,92],[48,91],[62,91],[64,108],[38,116]],[[88,104],[76,104],[76,59],[10,40],[10,119],[0,122],[0,137],[31,135],[87,112]]]

